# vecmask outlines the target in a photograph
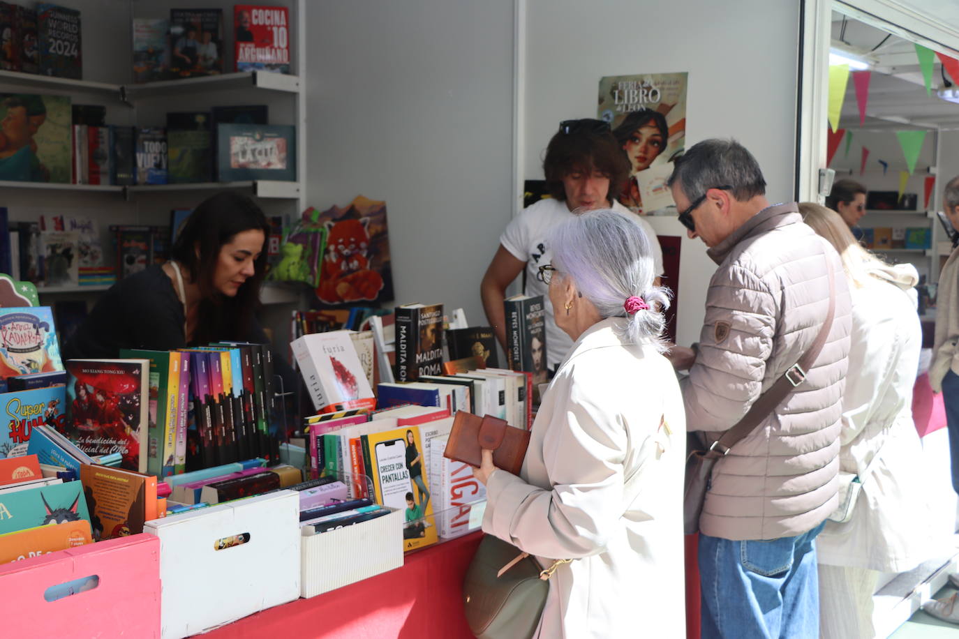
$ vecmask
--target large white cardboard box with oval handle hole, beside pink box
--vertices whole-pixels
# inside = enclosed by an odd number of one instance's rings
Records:
[[[160,539],[162,639],[179,639],[300,594],[299,493],[277,491],[153,519]],[[221,539],[245,543],[217,550]]]

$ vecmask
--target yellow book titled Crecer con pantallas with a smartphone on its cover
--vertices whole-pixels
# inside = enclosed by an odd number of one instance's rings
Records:
[[[370,460],[366,472],[373,480],[377,503],[406,513],[403,550],[435,543],[433,504],[419,428],[406,426],[363,435],[363,455]]]

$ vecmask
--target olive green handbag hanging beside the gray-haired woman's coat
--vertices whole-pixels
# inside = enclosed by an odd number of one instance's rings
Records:
[[[483,536],[463,578],[463,608],[478,639],[529,639],[539,626],[550,577],[535,558],[492,535]]]

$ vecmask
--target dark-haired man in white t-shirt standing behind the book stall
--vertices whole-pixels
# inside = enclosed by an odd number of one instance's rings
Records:
[[[625,184],[629,162],[610,132],[609,125],[601,120],[568,120],[560,123],[559,131],[552,136],[547,146],[543,172],[552,196],[527,207],[503,231],[500,247],[483,275],[479,294],[486,318],[505,350],[503,299],[506,286],[526,268],[524,292],[526,295],[542,295],[545,302],[547,364],[550,370],[555,371],[573,346],[573,340],[553,321],[547,293],[549,286],[536,277],[539,267],[552,260],[550,247],[546,245],[550,230],[575,215],[573,211],[577,210],[611,208],[624,216],[635,216],[616,201],[618,193],[615,185]],[[656,240],[656,233],[643,217],[638,219],[649,236],[656,273],[662,275],[663,252]],[[659,284],[659,278],[656,284]]]

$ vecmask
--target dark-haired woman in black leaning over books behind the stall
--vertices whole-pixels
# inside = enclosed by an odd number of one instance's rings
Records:
[[[266,342],[254,313],[268,234],[267,217],[246,195],[208,197],[184,223],[170,261],[111,286],[63,347],[64,359],[220,340]]]

